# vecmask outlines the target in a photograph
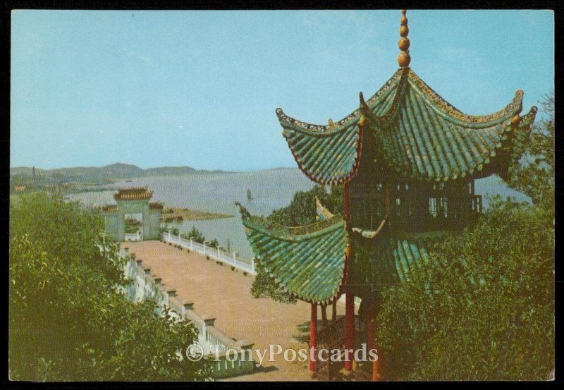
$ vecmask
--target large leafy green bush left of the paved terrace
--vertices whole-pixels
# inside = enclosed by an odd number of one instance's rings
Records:
[[[193,380],[203,363],[177,355],[190,322],[133,303],[125,260],[102,217],[54,195],[20,197],[10,213],[9,371],[32,381]]]

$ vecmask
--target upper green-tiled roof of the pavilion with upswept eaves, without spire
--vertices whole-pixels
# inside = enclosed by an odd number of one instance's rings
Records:
[[[517,91],[495,114],[470,116],[448,104],[410,68],[400,68],[367,102],[361,94],[360,109],[337,123],[311,125],[281,109],[276,114],[300,169],[317,183],[350,180],[358,169],[363,137],[376,142],[401,175],[446,181],[482,171],[498,154],[502,164],[492,164],[489,172],[503,175],[520,157],[521,142],[537,113],[532,107],[519,116],[522,97]]]

